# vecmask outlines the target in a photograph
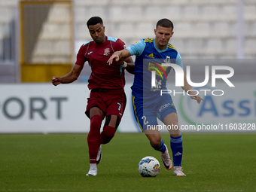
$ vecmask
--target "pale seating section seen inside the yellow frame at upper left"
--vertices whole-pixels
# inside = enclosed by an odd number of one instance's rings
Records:
[[[68,5],[53,5],[50,8],[32,53],[32,63],[69,62],[71,18]]]

